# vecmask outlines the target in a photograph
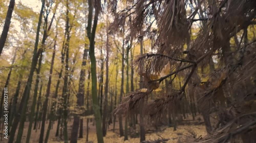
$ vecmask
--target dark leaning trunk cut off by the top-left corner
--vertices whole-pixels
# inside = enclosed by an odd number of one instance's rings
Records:
[[[3,32],[2,32],[1,37],[0,37],[0,56],[1,56],[1,53],[4,49],[5,42],[6,42],[6,39],[7,39],[7,35],[8,35],[8,32],[9,32],[11,19],[12,19],[12,12],[14,10],[14,5],[15,5],[15,0],[10,0],[8,11],[7,11],[6,18],[5,18],[5,25],[4,25]]]

